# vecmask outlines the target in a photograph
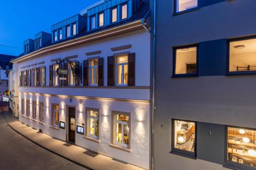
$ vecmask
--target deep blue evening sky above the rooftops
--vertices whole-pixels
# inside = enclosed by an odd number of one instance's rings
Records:
[[[78,14],[100,0],[13,0],[0,2],[0,54],[19,55],[23,41],[40,31],[51,33],[51,26]]]

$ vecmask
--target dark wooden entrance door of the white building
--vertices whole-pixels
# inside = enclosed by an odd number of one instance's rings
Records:
[[[69,141],[75,143],[76,131],[76,111],[75,108],[69,107]]]

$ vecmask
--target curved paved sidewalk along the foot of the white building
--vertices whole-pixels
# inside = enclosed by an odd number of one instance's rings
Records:
[[[122,163],[118,160],[114,160],[110,157],[103,156],[97,153],[90,152],[86,149],[78,147],[76,145],[67,143],[48,136],[44,133],[39,133],[38,130],[32,129],[25,124],[20,123],[16,118],[13,118],[12,114],[8,111],[4,112],[4,116],[7,124],[22,134],[29,140],[40,145],[54,154],[57,154],[63,158],[66,158],[74,163],[77,163],[88,169],[95,170],[142,170],[143,168],[131,165],[129,163]]]

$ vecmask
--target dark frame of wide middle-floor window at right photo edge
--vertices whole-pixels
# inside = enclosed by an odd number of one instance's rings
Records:
[[[250,40],[250,39],[256,39],[256,35],[240,37],[240,38],[227,39],[226,76],[233,76],[233,75],[241,75],[241,76],[242,75],[256,75],[256,70],[254,70],[254,71],[229,71],[230,42]]]

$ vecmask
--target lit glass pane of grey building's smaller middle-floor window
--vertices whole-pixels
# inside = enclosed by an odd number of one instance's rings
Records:
[[[176,50],[175,74],[197,73],[197,47]]]

